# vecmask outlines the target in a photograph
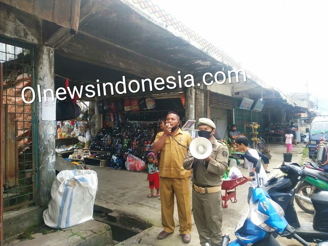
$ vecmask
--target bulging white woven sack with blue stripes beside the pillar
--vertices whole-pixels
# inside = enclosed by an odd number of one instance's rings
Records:
[[[92,170],[65,170],[57,174],[49,207],[43,212],[45,224],[63,229],[92,219],[97,186],[97,173]]]

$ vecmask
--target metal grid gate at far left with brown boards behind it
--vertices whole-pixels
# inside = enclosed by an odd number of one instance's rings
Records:
[[[36,201],[36,105],[22,99],[23,88],[34,88],[33,47],[0,38],[0,62],[3,207],[8,210]],[[25,90],[24,95],[31,100],[31,90]]]

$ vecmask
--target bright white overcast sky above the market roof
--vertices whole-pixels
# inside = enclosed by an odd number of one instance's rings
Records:
[[[328,113],[328,1],[153,0],[267,83]],[[320,101],[324,100],[324,101]]]

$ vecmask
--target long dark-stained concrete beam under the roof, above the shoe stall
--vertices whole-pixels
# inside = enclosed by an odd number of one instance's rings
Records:
[[[58,52],[72,59],[144,78],[155,79],[162,77],[166,79],[168,76],[177,78],[178,71],[181,72],[181,78],[187,74],[187,72],[173,66],[81,31],[77,32],[71,41],[63,45]]]

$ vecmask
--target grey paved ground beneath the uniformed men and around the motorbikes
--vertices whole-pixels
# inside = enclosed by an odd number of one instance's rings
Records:
[[[275,174],[281,174],[278,168],[283,161],[282,153],[285,153],[285,145],[281,144],[269,144],[268,147],[271,150],[272,159],[269,164],[269,171],[271,173],[268,177]],[[305,145],[298,144],[293,145],[293,159],[292,162],[299,163],[302,158],[302,151]],[[146,173],[133,173],[127,170],[113,170],[110,168],[89,166],[92,170],[98,174],[98,192],[96,195],[95,209],[102,211],[106,214],[114,213],[125,218],[135,218],[136,221],[141,221],[141,224],[151,227],[146,229],[140,235],[136,235],[127,241],[120,243],[119,245],[184,245],[181,236],[178,233],[178,216],[177,208],[174,206],[174,218],[176,224],[176,232],[173,235],[168,236],[164,240],[157,240],[157,234],[162,230],[161,228],[161,208],[160,200],[158,198],[148,198],[150,190],[148,188],[147,174]],[[243,160],[241,160],[238,168],[245,176],[248,174],[248,170],[243,167]],[[236,189],[237,203],[228,202],[228,208],[223,209],[223,233],[229,233],[231,239],[236,239],[234,230],[241,215],[247,209],[247,193],[248,185],[244,184],[238,186]],[[176,202],[175,202],[176,204]],[[295,204],[300,222],[312,221],[313,215],[307,214],[301,211]],[[193,217],[193,216],[192,216]],[[281,245],[300,245],[296,240],[289,240],[278,237],[278,242]],[[193,220],[192,241],[188,245],[199,245],[199,238],[195,223]]]

